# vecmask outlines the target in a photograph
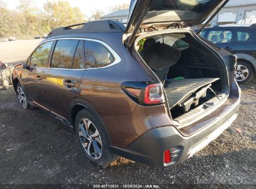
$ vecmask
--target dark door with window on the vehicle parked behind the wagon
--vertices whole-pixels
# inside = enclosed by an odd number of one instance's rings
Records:
[[[235,49],[234,35],[232,30],[209,30],[206,39],[218,45],[219,47],[228,50],[229,52],[232,52]]]

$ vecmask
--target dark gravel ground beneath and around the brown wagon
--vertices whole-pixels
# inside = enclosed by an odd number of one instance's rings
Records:
[[[256,188],[256,80],[241,88],[239,117],[232,126],[191,159],[164,169],[123,158],[105,169],[95,167],[83,158],[69,129],[40,110],[22,109],[12,88],[0,90],[0,184]]]

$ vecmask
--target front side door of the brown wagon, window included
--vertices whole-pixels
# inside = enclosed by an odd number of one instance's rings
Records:
[[[49,63],[53,42],[45,42],[34,50],[27,60],[27,68],[22,70],[22,85],[30,102],[42,103],[42,77]]]

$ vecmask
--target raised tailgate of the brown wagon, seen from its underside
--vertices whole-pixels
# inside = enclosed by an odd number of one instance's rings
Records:
[[[126,32],[202,24],[229,0],[131,0]]]

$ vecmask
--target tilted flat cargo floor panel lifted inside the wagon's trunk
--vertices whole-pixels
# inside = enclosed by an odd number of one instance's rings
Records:
[[[166,80],[164,89],[168,98],[169,107],[173,108],[184,98],[189,97],[192,93],[200,88],[207,86],[219,78],[193,78],[185,80]]]

